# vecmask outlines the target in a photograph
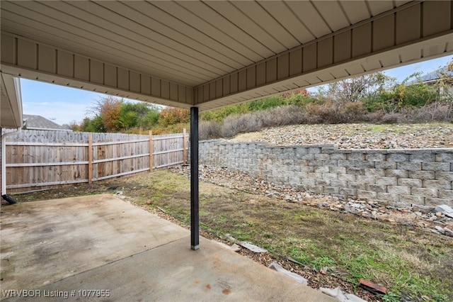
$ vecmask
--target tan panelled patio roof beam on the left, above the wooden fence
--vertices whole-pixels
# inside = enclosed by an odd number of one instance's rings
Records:
[[[1,72],[166,106],[190,108],[193,105],[190,86],[3,31]]]

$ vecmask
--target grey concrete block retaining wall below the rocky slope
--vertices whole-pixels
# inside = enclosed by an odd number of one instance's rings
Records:
[[[453,149],[338,150],[206,140],[200,142],[200,164],[343,199],[453,206]]]

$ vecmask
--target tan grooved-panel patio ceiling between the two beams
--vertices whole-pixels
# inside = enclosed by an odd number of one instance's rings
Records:
[[[1,29],[197,86],[410,1],[1,1]]]

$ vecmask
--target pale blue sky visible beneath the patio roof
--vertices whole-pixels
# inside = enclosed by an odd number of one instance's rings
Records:
[[[440,57],[434,60],[418,62],[403,67],[388,69],[385,74],[396,77],[398,82],[409,75],[420,72],[428,74],[439,67],[443,67],[453,59],[453,55]],[[70,124],[73,121],[80,123],[86,116],[96,100],[103,98],[104,94],[82,89],[47,84],[44,82],[21,79],[21,94],[23,113],[43,116],[59,125]],[[132,101],[127,100],[126,101]]]

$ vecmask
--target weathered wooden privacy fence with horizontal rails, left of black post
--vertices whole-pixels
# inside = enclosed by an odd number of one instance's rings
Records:
[[[6,139],[6,189],[32,191],[151,171],[185,163],[187,150],[185,130],[169,135],[23,130]]]

